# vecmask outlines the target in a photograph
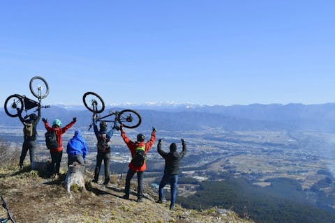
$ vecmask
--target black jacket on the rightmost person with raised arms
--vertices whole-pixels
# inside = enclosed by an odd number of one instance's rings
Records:
[[[158,142],[157,152],[165,159],[165,174],[179,174],[179,161],[186,154],[186,144],[183,143],[183,151],[178,153],[177,151],[166,153],[161,149],[161,141]]]

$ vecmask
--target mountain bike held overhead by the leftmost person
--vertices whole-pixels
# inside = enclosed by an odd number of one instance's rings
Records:
[[[31,78],[29,83],[29,89],[31,93],[38,99],[38,101],[27,98],[26,95],[19,95],[19,94],[10,95],[5,100],[5,106],[4,106],[5,112],[8,116],[14,118],[19,116],[19,113],[21,113],[23,110],[27,114],[28,110],[36,107],[37,109],[34,112],[38,111],[38,109],[41,109],[43,107],[44,108],[50,107],[50,106],[41,106],[41,100],[43,98],[46,98],[47,95],[49,94],[49,86],[43,77],[35,76]],[[26,117],[27,116],[29,115],[27,114]]]

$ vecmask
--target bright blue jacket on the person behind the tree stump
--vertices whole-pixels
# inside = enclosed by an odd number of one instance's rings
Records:
[[[80,132],[80,130],[75,130],[75,135],[68,141],[66,153],[68,153],[68,155],[82,155],[85,160],[87,155],[87,142],[82,138],[82,132]]]

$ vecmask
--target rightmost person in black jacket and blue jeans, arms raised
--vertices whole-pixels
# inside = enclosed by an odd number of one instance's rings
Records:
[[[178,174],[179,174],[179,162],[181,158],[186,154],[186,144],[185,140],[181,139],[181,144],[183,146],[183,150],[178,153],[177,145],[173,142],[170,144],[170,152],[166,153],[162,150],[162,141],[163,139],[158,140],[157,144],[157,152],[165,159],[165,167],[164,167],[164,175],[159,183],[159,199],[157,203],[163,203],[163,188],[165,185],[170,183],[171,190],[171,202],[170,202],[170,210],[174,209],[174,203],[176,202],[177,196],[177,183],[178,183]]]

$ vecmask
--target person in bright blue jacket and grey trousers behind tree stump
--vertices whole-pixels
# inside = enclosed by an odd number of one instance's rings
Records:
[[[68,153],[68,166],[77,162],[81,165],[85,164],[85,159],[87,155],[87,142],[82,138],[82,132],[80,130],[75,130],[75,134],[68,141],[68,146],[66,146],[66,153]]]

